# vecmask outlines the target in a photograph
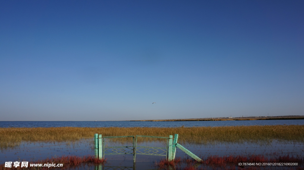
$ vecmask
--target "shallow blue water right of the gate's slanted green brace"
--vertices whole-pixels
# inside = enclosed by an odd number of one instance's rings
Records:
[[[266,155],[274,157],[277,155],[304,156],[304,145],[292,141],[261,141],[260,143],[243,141],[236,142],[212,142],[205,145],[185,144],[187,149],[198,155],[200,158],[207,158],[211,155]],[[183,152],[177,150],[177,156],[187,157]]]

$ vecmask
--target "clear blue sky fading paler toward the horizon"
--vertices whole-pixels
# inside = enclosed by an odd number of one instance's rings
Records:
[[[0,31],[0,121],[304,115],[302,0],[0,1]]]

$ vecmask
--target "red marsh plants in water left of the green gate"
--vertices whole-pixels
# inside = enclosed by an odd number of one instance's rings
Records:
[[[23,160],[23,161],[18,161],[20,162],[19,165],[21,165],[21,162],[26,162],[26,160]],[[69,168],[71,166],[78,166],[80,165],[81,163],[94,163],[94,164],[103,164],[105,163],[105,159],[98,159],[98,158],[95,158],[95,156],[92,156],[92,155],[88,155],[88,156],[83,156],[83,157],[79,157],[79,156],[61,156],[61,157],[53,157],[53,158],[47,158],[47,159],[44,159],[44,160],[39,160],[39,161],[35,161],[35,162],[29,162],[28,163],[28,167],[24,168],[24,167],[20,167],[18,166],[17,168],[14,167],[12,164],[12,167],[11,168],[8,168],[8,167],[4,167],[5,165],[2,164],[0,165],[0,170],[19,170],[19,169],[50,169],[50,168],[58,168],[58,167],[39,167],[39,166],[33,166],[33,167],[30,167],[30,164],[63,164],[63,167],[60,167],[60,169],[66,169],[66,168]],[[42,166],[43,166],[42,165]]]

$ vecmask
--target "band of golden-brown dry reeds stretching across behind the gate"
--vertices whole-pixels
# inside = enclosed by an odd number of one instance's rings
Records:
[[[304,141],[304,125],[274,126],[220,126],[220,127],[52,127],[52,128],[0,128],[1,148],[19,142],[78,140],[102,136],[169,136],[178,134],[179,143],[208,144],[240,141]],[[122,138],[121,138],[122,139]]]

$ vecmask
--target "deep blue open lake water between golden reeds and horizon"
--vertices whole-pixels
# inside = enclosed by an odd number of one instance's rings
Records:
[[[192,127],[192,126],[253,126],[304,125],[302,120],[226,120],[226,121],[0,121],[0,127]]]

